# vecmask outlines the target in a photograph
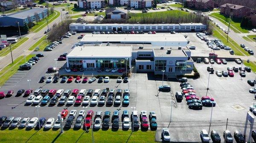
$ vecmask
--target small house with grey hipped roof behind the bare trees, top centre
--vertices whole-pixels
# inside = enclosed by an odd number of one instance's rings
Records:
[[[106,17],[108,19],[121,19],[121,18],[126,18],[127,16],[127,10],[122,9],[122,8],[108,8],[105,11]]]

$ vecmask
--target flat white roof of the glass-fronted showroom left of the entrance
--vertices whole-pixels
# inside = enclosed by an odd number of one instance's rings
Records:
[[[67,57],[131,57],[131,46],[77,46]]]

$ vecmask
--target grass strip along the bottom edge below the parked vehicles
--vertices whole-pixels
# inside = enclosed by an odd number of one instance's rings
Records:
[[[88,133],[79,129],[74,131],[69,129],[64,131],[62,135],[59,135],[58,131],[43,131],[25,129],[5,129],[0,131],[1,143],[92,143],[91,129]],[[116,132],[108,129],[107,131],[93,132],[95,143],[155,143],[155,131],[137,131],[131,134],[131,130]],[[10,140],[12,139],[12,140]]]

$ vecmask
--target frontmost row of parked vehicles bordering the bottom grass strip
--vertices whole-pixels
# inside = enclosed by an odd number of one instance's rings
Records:
[[[72,125],[74,125],[74,128],[81,128],[81,126],[84,129],[90,129],[93,127],[93,129],[100,129],[102,128],[108,129],[110,127],[110,124],[112,123],[112,129],[119,129],[119,111],[116,110],[113,112],[112,118],[111,118],[111,112],[105,111],[102,113],[102,111],[97,111],[94,116],[93,110],[88,110],[87,112],[85,110],[80,110],[77,112],[76,110],[71,110],[70,113],[68,109],[63,109],[61,111],[61,121],[58,119],[55,120],[55,118],[49,118],[46,120],[46,118],[21,118],[21,117],[6,117],[1,116],[0,117],[0,126],[3,126],[4,128],[8,127],[20,127],[20,128],[42,128],[44,126],[45,129],[59,129],[61,126],[64,125],[65,128],[70,128]],[[94,116],[94,120],[93,120]],[[67,120],[65,121],[65,119]],[[140,118],[140,119],[139,119]],[[148,118],[149,122],[148,123]],[[130,121],[131,119],[131,121]],[[139,128],[140,126],[142,128],[148,128],[150,126],[151,129],[157,129],[157,116],[156,112],[151,111],[149,115],[147,115],[146,111],[141,111],[140,116],[138,115],[137,111],[132,111],[131,117],[129,118],[129,112],[128,110],[124,110],[121,115],[121,122],[122,122],[122,128],[123,129],[129,129],[130,124],[133,126],[133,128]],[[76,120],[76,121],[75,121]],[[141,121],[141,123],[140,123]],[[74,123],[75,122],[75,123]]]

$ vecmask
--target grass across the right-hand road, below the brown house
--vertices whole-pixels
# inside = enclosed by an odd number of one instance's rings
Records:
[[[219,14],[219,13],[212,13],[210,14],[210,16],[220,20],[222,23],[224,23],[225,25],[228,26],[228,21],[229,21],[229,16],[224,16],[222,14]],[[240,22],[241,22],[241,18],[236,18],[236,17],[233,17],[233,20],[231,20],[230,22],[230,28],[235,31],[236,33],[248,33],[248,30],[246,28],[242,28],[240,26]]]

